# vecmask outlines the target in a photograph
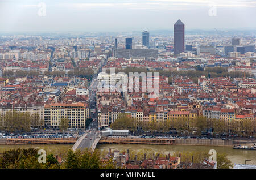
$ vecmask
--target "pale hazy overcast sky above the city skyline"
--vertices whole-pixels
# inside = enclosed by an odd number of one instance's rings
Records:
[[[0,0],[0,31],[172,30],[177,19],[186,29],[256,29],[256,0]]]

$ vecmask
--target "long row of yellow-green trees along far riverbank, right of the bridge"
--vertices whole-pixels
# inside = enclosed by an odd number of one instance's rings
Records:
[[[140,128],[144,131],[168,132],[177,130],[179,134],[192,134],[196,131],[198,135],[204,130],[212,130],[214,134],[233,133],[249,136],[254,133],[254,121],[243,119],[242,121],[226,122],[222,119],[207,119],[199,116],[196,119],[179,118],[177,120],[165,120],[160,122],[144,122],[133,119],[125,114],[120,114],[111,125],[112,129],[129,129],[135,131]]]

